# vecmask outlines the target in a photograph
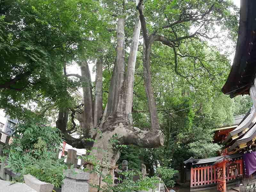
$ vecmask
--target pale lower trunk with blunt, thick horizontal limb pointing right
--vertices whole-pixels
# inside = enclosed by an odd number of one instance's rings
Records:
[[[137,127],[129,125],[125,119],[123,120],[124,123],[121,121],[122,120],[112,121],[112,123],[110,123],[115,127],[114,129],[100,127],[100,130],[103,130],[103,134],[96,138],[97,142],[93,144],[92,152],[90,153],[90,156],[95,156],[100,164],[104,164],[108,167],[116,166],[116,161],[120,156],[119,149],[114,149],[112,143],[109,142],[109,139],[115,134],[118,136],[117,140],[119,141],[119,144],[134,144],[143,148],[157,148],[164,144],[164,134],[161,131],[143,131]],[[104,124],[101,124],[101,126],[104,126]],[[87,167],[92,169],[92,165],[88,165]],[[112,169],[107,168],[103,168],[102,172],[104,174],[109,173],[112,176],[114,174]],[[102,178],[95,173],[90,175],[90,182],[94,185],[104,184]],[[97,189],[90,188],[90,192],[96,191]]]

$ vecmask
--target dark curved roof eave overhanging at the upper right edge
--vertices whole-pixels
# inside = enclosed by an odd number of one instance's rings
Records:
[[[228,79],[222,87],[230,98],[249,94],[256,72],[256,1],[241,1],[236,53]]]

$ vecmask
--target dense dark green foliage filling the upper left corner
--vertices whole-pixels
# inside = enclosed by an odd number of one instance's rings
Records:
[[[10,0],[0,4],[0,108],[21,119],[35,116],[25,107],[31,101],[63,104],[81,86],[65,78],[65,63],[95,59],[95,50],[106,45],[111,35],[99,3]]]

